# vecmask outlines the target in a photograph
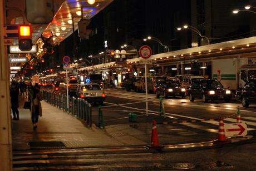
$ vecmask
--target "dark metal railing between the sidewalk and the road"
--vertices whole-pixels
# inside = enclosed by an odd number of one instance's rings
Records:
[[[85,99],[68,97],[67,107],[67,95],[61,93],[54,93],[43,90],[43,99],[45,102],[54,105],[55,107],[66,111],[67,113],[75,116],[78,119],[85,121],[85,123],[92,127],[92,109],[91,104]]]

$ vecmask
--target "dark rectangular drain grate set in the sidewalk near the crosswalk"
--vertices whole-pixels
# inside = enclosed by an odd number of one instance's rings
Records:
[[[65,148],[62,142],[29,142],[28,145],[33,148]]]

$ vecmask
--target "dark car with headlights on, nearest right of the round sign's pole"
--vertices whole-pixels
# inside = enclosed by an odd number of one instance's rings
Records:
[[[185,98],[185,88],[180,88],[180,85],[175,80],[167,80],[159,83],[159,86],[156,88],[156,97],[160,95],[164,95],[164,98],[168,98],[169,96],[181,96]]]

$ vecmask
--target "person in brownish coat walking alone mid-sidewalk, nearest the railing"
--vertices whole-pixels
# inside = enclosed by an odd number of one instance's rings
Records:
[[[42,107],[40,101],[43,99],[42,93],[40,92],[40,86],[37,83],[33,87],[31,95],[31,119],[33,129],[36,129],[39,116],[42,117]]]

